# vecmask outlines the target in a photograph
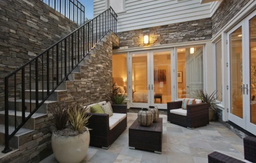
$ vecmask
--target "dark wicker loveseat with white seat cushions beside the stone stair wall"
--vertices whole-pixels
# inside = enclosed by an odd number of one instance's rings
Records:
[[[96,104],[89,105],[89,107]],[[98,104],[102,106],[106,104],[106,101]],[[89,129],[92,129],[90,130],[91,146],[100,146],[108,149],[127,128],[127,106],[112,105],[112,109],[113,116],[111,117],[108,114],[87,113],[92,115],[87,125]]]

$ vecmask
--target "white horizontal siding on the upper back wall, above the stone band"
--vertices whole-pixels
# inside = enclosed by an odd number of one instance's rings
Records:
[[[162,26],[210,17],[212,3],[198,0],[126,0],[126,12],[118,13],[118,32]],[[106,9],[106,0],[94,0],[94,16]]]

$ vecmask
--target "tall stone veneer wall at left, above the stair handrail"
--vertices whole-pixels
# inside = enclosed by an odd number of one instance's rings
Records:
[[[40,0],[0,1],[0,111],[4,77],[76,28]]]

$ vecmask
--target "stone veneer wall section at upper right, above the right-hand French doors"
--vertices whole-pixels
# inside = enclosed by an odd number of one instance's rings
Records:
[[[212,35],[215,35],[250,0],[224,0],[212,16]]]

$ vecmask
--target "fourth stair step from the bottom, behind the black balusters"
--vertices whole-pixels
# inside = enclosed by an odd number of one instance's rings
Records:
[[[38,100],[38,103],[40,103],[42,100]],[[47,108],[48,105],[52,105],[55,106],[57,103],[57,101],[45,101],[36,111],[36,113],[44,113],[47,114]],[[26,112],[30,112],[30,100],[25,100],[25,106]],[[33,111],[33,109],[36,108],[36,100],[31,100],[31,110]],[[9,110],[15,110],[15,101],[14,100],[10,100],[9,101]],[[16,100],[16,111],[22,111],[22,100],[21,99],[17,99]]]

